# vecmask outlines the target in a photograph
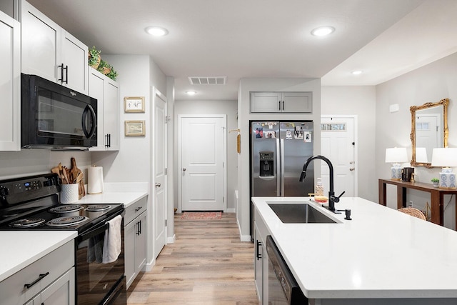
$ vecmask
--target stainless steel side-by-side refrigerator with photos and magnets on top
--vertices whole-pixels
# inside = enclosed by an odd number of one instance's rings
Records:
[[[313,164],[304,183],[303,164],[313,156],[313,121],[251,121],[251,196],[308,196]]]

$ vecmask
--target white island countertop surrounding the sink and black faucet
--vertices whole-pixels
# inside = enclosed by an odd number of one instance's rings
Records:
[[[457,297],[456,231],[361,198],[336,204],[351,221],[308,197],[252,201],[310,299]],[[266,201],[311,202],[341,224],[283,224]]]

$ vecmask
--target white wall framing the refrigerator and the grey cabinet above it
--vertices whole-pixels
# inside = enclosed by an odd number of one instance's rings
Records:
[[[312,91],[312,114],[250,114],[250,91]],[[236,218],[241,232],[241,240],[250,239],[251,198],[249,194],[249,120],[306,120],[314,121],[314,154],[321,151],[321,79],[241,79],[238,88],[238,128],[241,131],[241,154],[238,154],[238,209]],[[321,169],[317,166],[316,176]],[[297,177],[298,179],[298,177]]]

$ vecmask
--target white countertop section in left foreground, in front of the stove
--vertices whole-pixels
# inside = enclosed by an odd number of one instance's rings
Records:
[[[0,231],[0,281],[76,236],[76,231]]]

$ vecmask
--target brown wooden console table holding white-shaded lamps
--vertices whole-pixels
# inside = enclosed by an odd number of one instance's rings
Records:
[[[417,189],[430,193],[431,222],[443,226],[444,218],[444,195],[457,195],[457,189],[439,189],[432,184],[421,182],[407,182],[392,179],[379,179],[379,204],[386,206],[386,189],[387,184],[397,186],[397,209],[406,207],[406,189]],[[456,198],[457,204],[457,198]],[[456,229],[457,229],[457,209],[456,209]]]

